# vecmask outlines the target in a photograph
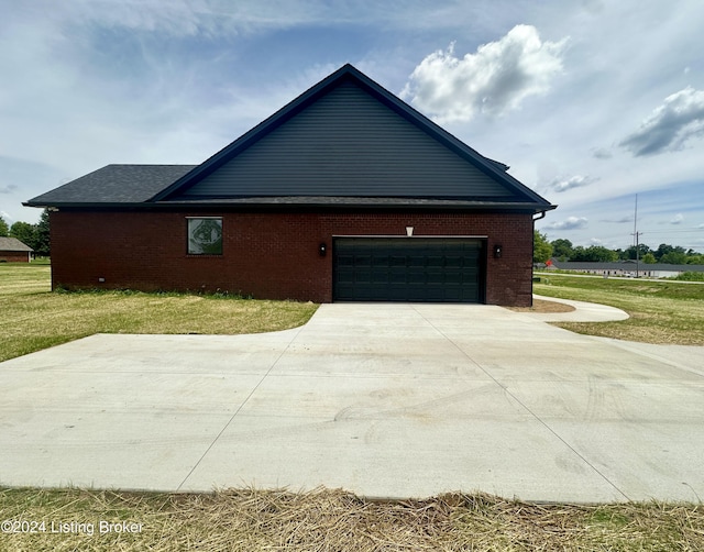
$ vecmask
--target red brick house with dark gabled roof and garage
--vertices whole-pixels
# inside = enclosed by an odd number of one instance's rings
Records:
[[[556,206],[345,65],[201,165],[108,165],[50,209],[67,288],[531,303]]]

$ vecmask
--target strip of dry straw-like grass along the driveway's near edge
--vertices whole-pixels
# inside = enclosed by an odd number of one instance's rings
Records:
[[[704,550],[702,505],[538,505],[479,494],[371,501],[342,490],[215,494],[0,489],[0,518],[45,530],[0,533],[13,551]],[[74,533],[47,529],[74,522]],[[100,521],[138,523],[99,534]],[[80,526],[82,523],[82,526]],[[87,534],[89,527],[94,534]]]

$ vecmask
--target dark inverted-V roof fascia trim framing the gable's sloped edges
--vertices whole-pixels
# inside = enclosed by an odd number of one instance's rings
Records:
[[[169,196],[175,196],[178,191],[183,191],[189,188],[196,181],[217,170],[224,163],[237,156],[240,152],[246,150],[249,146],[264,137],[266,134],[273,132],[275,129],[292,119],[294,115],[306,109],[308,106],[315,103],[319,98],[327,95],[330,90],[339,86],[345,79],[350,79],[356,85],[361,86],[372,97],[381,101],[386,107],[391,108],[394,112],[402,115],[407,121],[415,124],[431,137],[438,140],[440,143],[452,150],[465,161],[472,163],[483,173],[507,185],[518,195],[524,196],[529,200],[540,205],[541,209],[538,209],[536,212],[548,211],[557,208],[557,206],[552,206],[543,197],[539,196],[530,188],[506,173],[506,170],[508,170],[507,165],[484,157],[482,154],[466,145],[464,142],[458,140],[440,125],[432,122],[426,115],[397,98],[395,95],[386,90],[384,87],[369,78],[366,75],[364,75],[350,64],[342,66],[340,69],[329,75],[327,78],[298,96],[298,98],[279,109],[270,118],[258,123],[256,126],[240,136],[230,145],[226,146],[223,150],[205,161],[201,165],[194,168],[190,173],[184,175],[174,184],[156,194],[148,201],[163,201]]]

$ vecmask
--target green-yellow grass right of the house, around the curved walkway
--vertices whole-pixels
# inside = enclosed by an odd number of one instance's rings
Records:
[[[600,302],[630,314],[620,322],[559,323],[579,333],[645,343],[704,345],[704,285],[673,280],[540,275],[536,294]]]

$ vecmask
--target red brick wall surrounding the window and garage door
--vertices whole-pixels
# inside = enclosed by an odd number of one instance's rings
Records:
[[[186,253],[186,217],[222,216],[223,254]],[[531,303],[530,214],[70,212],[51,213],[53,285],[227,290],[255,298],[332,300],[333,235],[486,235],[486,302]],[[320,243],[328,255],[318,253]],[[502,258],[494,258],[496,244]],[[100,281],[105,278],[105,281]]]

